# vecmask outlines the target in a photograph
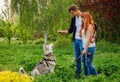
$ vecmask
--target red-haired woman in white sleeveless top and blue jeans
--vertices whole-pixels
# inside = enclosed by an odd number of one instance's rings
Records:
[[[84,12],[82,14],[82,28],[80,30],[80,36],[82,37],[83,42],[83,63],[84,63],[84,74],[90,75],[98,75],[94,66],[92,65],[94,52],[96,49],[95,41],[91,42],[95,33],[94,22],[92,20],[92,16],[89,12]]]

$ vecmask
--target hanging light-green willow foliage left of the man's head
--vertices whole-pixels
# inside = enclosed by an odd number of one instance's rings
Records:
[[[27,43],[26,37],[33,36],[35,30],[41,33],[38,38],[43,38],[44,33],[49,38],[56,36],[58,29],[68,29],[68,6],[71,3],[65,0],[11,0],[11,11],[18,15],[17,21],[20,20],[18,35],[23,38],[23,43]],[[53,37],[53,40],[56,41],[56,38]]]

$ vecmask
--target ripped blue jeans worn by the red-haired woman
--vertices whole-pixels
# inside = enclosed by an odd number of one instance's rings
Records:
[[[92,65],[95,49],[96,47],[88,47],[87,54],[82,56],[82,62],[84,64],[84,74],[86,76],[90,74],[98,75],[96,69]]]

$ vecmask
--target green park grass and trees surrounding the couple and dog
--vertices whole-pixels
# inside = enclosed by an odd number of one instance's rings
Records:
[[[1,3],[2,0],[0,0]],[[119,0],[3,0],[0,13],[0,71],[29,74],[42,60],[44,43],[54,43],[54,74],[36,76],[35,82],[119,82],[120,79],[120,1]],[[68,29],[70,5],[89,11],[97,26],[97,46],[93,64],[99,75],[73,79],[75,60],[72,35],[60,35]],[[82,70],[83,71],[83,70]]]

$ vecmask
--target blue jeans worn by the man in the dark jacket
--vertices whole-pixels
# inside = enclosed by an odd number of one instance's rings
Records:
[[[76,60],[76,74],[81,73],[81,58],[78,58],[81,54],[82,51],[82,40],[80,39],[75,39],[74,40],[74,57]]]

